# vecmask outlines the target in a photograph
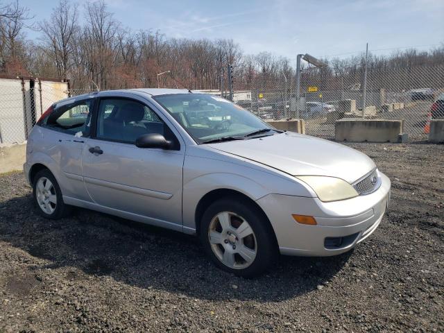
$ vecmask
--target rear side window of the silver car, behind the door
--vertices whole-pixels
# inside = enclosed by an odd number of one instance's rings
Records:
[[[91,99],[62,105],[44,119],[42,126],[72,135],[80,133],[81,136],[89,135],[91,107]]]

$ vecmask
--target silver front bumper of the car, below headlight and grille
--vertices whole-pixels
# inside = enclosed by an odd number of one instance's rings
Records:
[[[377,191],[348,200],[323,203],[318,198],[268,194],[257,200],[284,255],[339,255],[372,234],[388,205],[390,180],[381,173]],[[318,225],[297,223],[291,214],[314,216]]]

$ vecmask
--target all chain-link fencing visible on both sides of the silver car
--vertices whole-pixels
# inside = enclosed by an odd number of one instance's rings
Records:
[[[444,65],[402,69],[302,71],[297,103],[293,74],[234,76],[232,100],[264,120],[305,119],[308,135],[334,138],[334,123],[343,118],[404,119],[412,141],[427,139],[425,125],[434,100],[444,93]],[[26,140],[37,120],[60,99],[96,89],[69,89],[66,82],[0,78],[0,144]],[[212,91],[230,98],[228,90]]]

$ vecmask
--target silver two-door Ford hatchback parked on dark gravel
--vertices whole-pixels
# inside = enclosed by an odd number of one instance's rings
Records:
[[[391,185],[363,153],[182,89],[55,103],[28,137],[24,170],[48,219],[77,206],[196,234],[217,266],[245,277],[279,253],[350,250],[381,222]]]

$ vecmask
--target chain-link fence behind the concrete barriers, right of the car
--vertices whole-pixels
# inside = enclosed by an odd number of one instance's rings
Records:
[[[296,77],[284,74],[260,74],[248,82],[235,78],[233,101],[264,120],[305,119],[308,135],[325,138],[334,137],[338,119],[404,119],[404,133],[420,141],[427,139],[432,104],[444,92],[444,65],[368,69],[365,101],[364,70],[355,67],[303,70],[299,104],[295,87]]]

